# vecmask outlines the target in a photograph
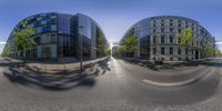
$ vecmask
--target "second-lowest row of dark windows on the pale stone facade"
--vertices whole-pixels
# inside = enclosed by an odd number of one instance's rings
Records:
[[[153,51],[153,54],[157,54],[157,48],[153,48],[152,51]],[[178,48],[178,54],[181,54],[181,52],[182,52],[181,48]],[[189,50],[186,48],[185,54],[188,54],[188,53],[189,53]],[[165,54],[165,48],[164,47],[161,48],[161,54]],[[174,54],[174,50],[173,50],[172,47],[169,48],[169,54]],[[194,50],[191,50],[191,54],[194,54]]]

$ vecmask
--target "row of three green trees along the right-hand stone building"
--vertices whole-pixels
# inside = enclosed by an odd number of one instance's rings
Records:
[[[179,33],[176,37],[179,44],[186,48],[189,53],[193,51],[193,49],[199,50],[196,38],[194,38],[192,29],[186,28],[182,33]],[[138,50],[138,43],[139,39],[135,36],[127,37],[118,47],[118,53],[123,54],[135,52]],[[214,48],[214,46],[209,43],[204,46],[203,53],[205,54],[205,57],[222,56],[222,52],[218,48]]]

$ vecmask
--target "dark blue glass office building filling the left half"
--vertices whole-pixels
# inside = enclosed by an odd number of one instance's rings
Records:
[[[18,51],[14,46],[14,31],[21,31],[22,23],[26,28],[33,29],[34,34],[30,38],[37,43],[33,48]],[[103,41],[99,42],[99,37]],[[81,39],[82,38],[82,39]],[[94,59],[104,56],[103,48],[107,48],[107,39],[99,24],[91,18],[77,13],[65,14],[58,12],[40,13],[20,21],[12,30],[7,46],[9,46],[12,58],[36,60],[60,60],[65,58],[80,57],[80,42],[82,41],[82,54],[84,59]]]

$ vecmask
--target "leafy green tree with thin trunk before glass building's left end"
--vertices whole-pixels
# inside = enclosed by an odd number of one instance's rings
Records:
[[[18,51],[22,52],[23,63],[26,63],[26,49],[29,49],[36,44],[36,42],[30,38],[32,34],[34,34],[34,30],[27,28],[27,26],[28,22],[23,22],[23,29],[13,33],[16,48]]]

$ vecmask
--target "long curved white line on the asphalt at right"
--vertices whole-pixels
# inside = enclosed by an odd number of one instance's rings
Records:
[[[158,87],[180,87],[180,85],[190,84],[190,83],[193,83],[198,80],[201,80],[202,78],[209,75],[209,73],[211,73],[213,70],[214,69],[210,69],[210,71],[205,72],[204,74],[199,74],[194,78],[191,78],[189,80],[181,81],[181,82],[157,82],[157,81],[147,80],[147,79],[142,80],[142,82],[153,84],[153,85],[158,85]]]

